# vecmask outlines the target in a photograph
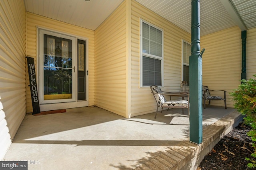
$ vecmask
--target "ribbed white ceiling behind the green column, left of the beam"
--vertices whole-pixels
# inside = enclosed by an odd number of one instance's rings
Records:
[[[146,8],[191,33],[191,0],[136,0]],[[201,36],[235,26],[220,0],[200,1]]]

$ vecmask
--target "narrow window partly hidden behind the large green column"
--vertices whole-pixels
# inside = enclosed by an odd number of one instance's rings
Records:
[[[182,43],[182,59],[183,59],[183,81],[188,82],[189,86],[189,56],[191,55],[191,44],[183,41]]]

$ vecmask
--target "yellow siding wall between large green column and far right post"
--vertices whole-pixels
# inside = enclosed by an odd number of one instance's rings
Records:
[[[231,27],[205,35],[200,41],[201,49],[205,48],[202,57],[203,85],[212,90],[226,90],[227,107],[234,107],[229,93],[238,87],[241,79],[241,30]],[[223,96],[223,93],[214,94],[217,95]],[[224,102],[214,100],[211,105],[224,106]]]

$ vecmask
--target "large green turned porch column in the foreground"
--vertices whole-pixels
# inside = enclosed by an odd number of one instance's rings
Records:
[[[200,56],[200,0],[191,2],[191,56],[189,57],[190,141],[202,143],[202,56]]]

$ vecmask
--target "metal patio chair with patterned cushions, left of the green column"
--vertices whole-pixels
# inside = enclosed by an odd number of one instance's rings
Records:
[[[161,113],[163,110],[163,107],[168,107],[169,108],[182,108],[182,114],[184,114],[184,108],[188,109],[188,115],[189,115],[189,94],[188,93],[163,93],[161,88],[159,88],[156,85],[150,86],[150,90],[152,91],[152,94],[154,95],[154,98],[156,100],[156,114],[158,112],[158,109],[161,108]],[[166,96],[180,96],[182,98],[188,97],[188,100],[179,100],[179,101],[167,101]],[[155,119],[156,119],[156,114],[155,114]]]

